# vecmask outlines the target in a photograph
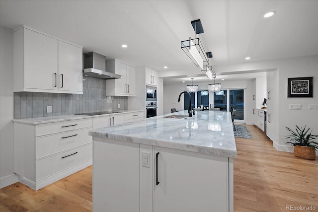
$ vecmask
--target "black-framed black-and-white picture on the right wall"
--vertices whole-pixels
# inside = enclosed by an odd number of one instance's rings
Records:
[[[313,97],[313,77],[288,78],[287,97]]]

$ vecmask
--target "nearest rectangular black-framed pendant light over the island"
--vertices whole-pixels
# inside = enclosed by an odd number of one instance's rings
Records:
[[[203,63],[206,62],[209,64],[209,60],[199,38],[191,39],[190,37],[189,40],[181,41],[181,49],[197,67],[203,69]]]

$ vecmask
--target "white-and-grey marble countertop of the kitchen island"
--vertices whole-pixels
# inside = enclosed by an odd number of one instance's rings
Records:
[[[185,118],[165,118],[186,115]],[[220,130],[220,131],[218,131]],[[224,157],[237,157],[230,112],[187,111],[169,113],[89,132],[90,136],[172,149],[199,152]]]

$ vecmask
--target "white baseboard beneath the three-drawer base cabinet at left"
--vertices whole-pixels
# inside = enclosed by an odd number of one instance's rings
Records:
[[[75,172],[78,172],[92,164],[92,159],[86,160],[84,162],[81,162],[75,166],[72,166],[68,169],[62,170],[60,172],[57,172],[53,175],[50,175],[46,178],[43,178],[41,180],[38,180],[36,182],[33,182],[25,177],[19,176],[19,182],[23,183],[24,185],[30,187],[31,189],[37,191],[47,185],[50,185],[51,183],[54,183],[58,180],[61,180],[71,174],[74,174]]]

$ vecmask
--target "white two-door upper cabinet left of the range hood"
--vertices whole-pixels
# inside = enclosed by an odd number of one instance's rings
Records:
[[[33,29],[13,33],[14,91],[82,94],[82,48]]]

